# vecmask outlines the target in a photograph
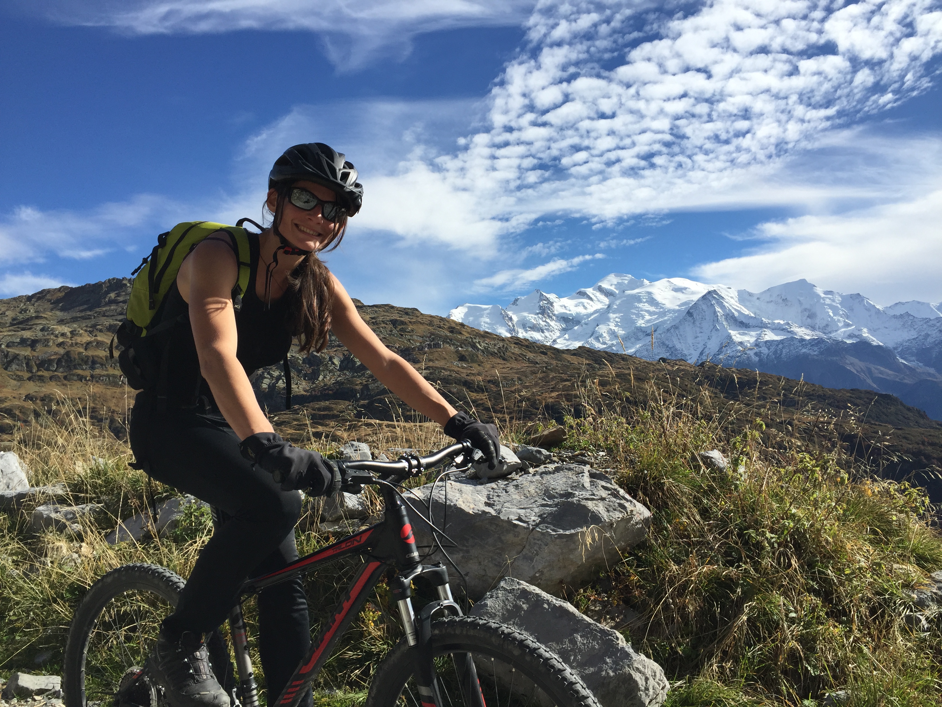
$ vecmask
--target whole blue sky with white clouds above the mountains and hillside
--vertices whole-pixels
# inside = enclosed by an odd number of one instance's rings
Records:
[[[942,0],[41,0],[0,8],[0,296],[365,185],[329,265],[444,314],[612,271],[942,300]]]

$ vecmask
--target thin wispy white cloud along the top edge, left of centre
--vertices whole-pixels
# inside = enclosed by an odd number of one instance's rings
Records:
[[[520,25],[532,7],[533,0],[40,0],[30,6],[61,24],[142,35],[310,31],[328,58],[347,70],[382,56],[403,57],[424,32]]]

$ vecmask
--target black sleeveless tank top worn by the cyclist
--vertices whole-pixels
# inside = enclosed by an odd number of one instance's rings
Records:
[[[224,237],[227,239],[228,237]],[[242,307],[235,312],[235,329],[238,345],[235,357],[247,375],[256,370],[272,366],[284,360],[291,348],[291,334],[287,326],[287,309],[290,292],[286,293],[270,308],[255,294],[255,277],[258,273],[258,236],[249,234],[249,252],[252,270],[249,287],[242,297]],[[180,294],[174,280],[167,293],[161,321],[186,314],[189,305]],[[200,358],[193,341],[193,329],[184,319],[173,327],[170,346],[166,350],[167,360],[167,404],[169,407],[192,407],[197,404],[216,406],[213,393],[200,372]],[[204,397],[204,401],[201,401]]]

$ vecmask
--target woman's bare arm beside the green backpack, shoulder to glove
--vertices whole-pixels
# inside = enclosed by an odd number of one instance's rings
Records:
[[[189,322],[203,378],[219,411],[239,439],[274,432],[242,364],[235,358],[232,288],[238,278],[235,254],[224,242],[204,240],[187,256],[177,274],[177,287],[189,304]]]

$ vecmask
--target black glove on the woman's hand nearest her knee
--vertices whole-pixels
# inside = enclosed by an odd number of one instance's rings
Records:
[[[340,490],[340,471],[317,452],[302,450],[274,432],[247,436],[238,446],[242,456],[271,474],[283,491],[307,489],[311,496]]]

